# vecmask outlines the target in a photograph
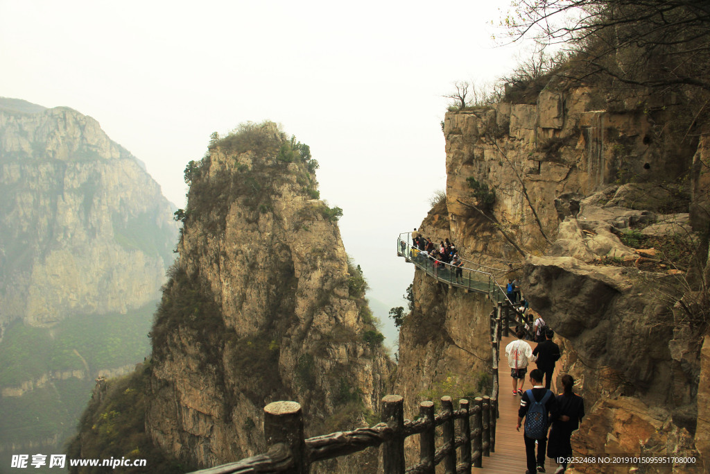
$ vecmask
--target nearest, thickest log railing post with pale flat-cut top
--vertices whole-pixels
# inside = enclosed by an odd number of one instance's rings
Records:
[[[305,437],[303,436],[303,416],[300,404],[296,402],[273,402],[264,407],[264,438],[266,447],[283,443],[293,457],[293,473],[309,472]]]

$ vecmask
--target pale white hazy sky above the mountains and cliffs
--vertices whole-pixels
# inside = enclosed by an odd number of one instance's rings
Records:
[[[372,306],[405,306],[414,269],[396,239],[446,187],[443,96],[524,54],[491,39],[509,3],[0,0],[0,97],[97,119],[178,208],[213,131],[282,124],[344,211]],[[392,343],[393,325],[383,332]]]

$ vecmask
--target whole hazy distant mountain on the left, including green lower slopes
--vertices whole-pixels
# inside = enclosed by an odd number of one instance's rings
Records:
[[[143,163],[99,122],[21,99],[0,98],[0,203],[0,465],[9,465],[30,448],[59,452],[94,379],[148,354],[178,226]]]

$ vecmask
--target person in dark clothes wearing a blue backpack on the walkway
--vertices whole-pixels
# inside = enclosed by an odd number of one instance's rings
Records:
[[[523,393],[523,398],[520,399],[518,426],[515,428],[520,431],[520,425],[525,419],[523,439],[525,440],[525,456],[528,460],[528,470],[525,471],[525,474],[545,472],[547,429],[550,428],[550,421],[557,417],[557,400],[552,390],[546,389],[542,384],[542,371],[531,370],[530,382],[532,389],[526,390]],[[535,444],[537,444],[537,457],[535,456]]]

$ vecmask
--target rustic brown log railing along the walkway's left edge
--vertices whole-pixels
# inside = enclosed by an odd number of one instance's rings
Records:
[[[310,472],[310,465],[319,460],[381,445],[382,468],[386,474],[434,473],[435,466],[442,462],[444,472],[450,474],[471,473],[471,468],[481,468],[483,458],[496,448],[497,399],[487,396],[472,401],[461,399],[459,409],[454,410],[451,397],[442,397],[441,405],[442,411],[435,414],[433,402],[422,402],[419,417],[410,421],[404,419],[403,398],[388,395],[382,399],[380,424],[305,439],[300,404],[273,402],[264,407],[266,454],[197,473],[302,474]],[[442,426],[442,443],[438,449],[435,445],[437,426]],[[417,434],[419,462],[405,468],[405,439]]]

